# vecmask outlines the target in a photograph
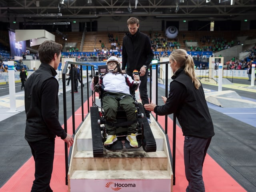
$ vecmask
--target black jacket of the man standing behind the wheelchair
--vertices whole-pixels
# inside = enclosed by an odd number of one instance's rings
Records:
[[[126,67],[127,71],[133,71],[134,69],[140,71],[143,65],[147,67],[154,58],[154,53],[151,48],[150,38],[140,32],[131,35],[126,34],[123,39],[122,45],[122,70]]]

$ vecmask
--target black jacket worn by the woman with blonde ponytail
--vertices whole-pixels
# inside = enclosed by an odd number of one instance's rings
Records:
[[[214,136],[212,118],[205,100],[202,84],[194,87],[191,78],[180,68],[170,83],[170,94],[163,106],[156,106],[158,115],[175,113],[184,136],[210,138]]]

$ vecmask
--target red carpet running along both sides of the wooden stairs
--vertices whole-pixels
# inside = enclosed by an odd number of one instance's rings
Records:
[[[91,104],[90,104],[91,106]],[[87,103],[84,104],[87,113]],[[81,122],[81,108],[75,113],[76,127]],[[158,122],[164,127],[164,116],[158,116]],[[172,120],[168,119],[168,135],[172,148]],[[68,133],[72,134],[72,118],[68,119]],[[176,132],[176,185],[174,192],[185,192],[188,184],[184,173],[183,136],[177,126]],[[203,169],[206,192],[246,192],[228,173],[226,173],[209,155],[206,156]],[[30,158],[11,178],[0,188],[0,192],[29,192],[34,180],[34,160]],[[64,142],[56,138],[54,169],[51,188],[54,192],[67,192],[65,185]]]

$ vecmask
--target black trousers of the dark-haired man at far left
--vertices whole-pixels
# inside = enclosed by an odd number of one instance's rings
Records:
[[[52,177],[54,159],[54,138],[46,138],[36,142],[28,142],[35,161],[35,180],[31,192],[52,192],[50,180]]]

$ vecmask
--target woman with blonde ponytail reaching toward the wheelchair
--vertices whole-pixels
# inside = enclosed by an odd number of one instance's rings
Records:
[[[188,180],[186,192],[204,192],[202,168],[214,128],[201,82],[196,78],[193,58],[183,49],[169,57],[174,75],[164,105],[145,104],[146,110],[157,115],[175,113],[184,135],[184,164]]]

